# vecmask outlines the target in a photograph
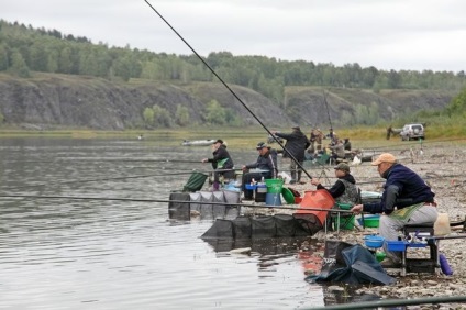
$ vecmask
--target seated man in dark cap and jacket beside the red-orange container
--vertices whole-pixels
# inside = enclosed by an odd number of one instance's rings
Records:
[[[335,199],[336,202],[354,204],[359,200],[359,192],[356,187],[356,180],[350,173],[350,166],[345,163],[340,163],[334,167],[335,177],[337,180],[330,188],[326,189],[319,179],[312,178],[311,184],[317,189],[325,189]]]

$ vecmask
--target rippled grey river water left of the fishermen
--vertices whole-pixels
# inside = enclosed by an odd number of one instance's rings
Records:
[[[257,156],[231,153],[238,165]],[[167,200],[210,168],[188,162],[210,156],[136,139],[1,139],[0,309],[323,306],[292,241],[233,254],[199,237],[212,221],[170,221],[166,202],[141,201]]]

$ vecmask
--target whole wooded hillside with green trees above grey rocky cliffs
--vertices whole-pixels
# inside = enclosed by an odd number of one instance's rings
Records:
[[[385,71],[229,52],[211,53],[206,62],[267,123],[323,125],[331,118],[341,125],[371,125],[407,115],[453,115],[464,108],[458,96],[464,71]],[[0,91],[0,124],[113,130],[257,124],[195,55],[109,47],[3,20]]]

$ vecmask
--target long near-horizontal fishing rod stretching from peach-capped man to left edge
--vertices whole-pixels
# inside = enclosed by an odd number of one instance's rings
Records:
[[[33,199],[71,199],[71,200],[99,200],[99,201],[130,201],[130,202],[175,202],[175,203],[197,203],[198,201],[187,201],[187,200],[170,200],[170,199],[133,199],[133,198],[102,198],[102,197],[76,197],[76,196],[36,196],[36,195],[0,195],[0,198],[33,198]],[[204,204],[213,206],[230,206],[230,207],[247,207],[247,208],[267,208],[275,210],[309,210],[309,211],[328,211],[328,212],[339,212],[339,213],[353,213],[350,210],[340,210],[340,209],[321,209],[321,208],[292,208],[292,207],[277,207],[277,206],[258,206],[251,203],[230,203],[230,202],[213,202],[204,201]]]

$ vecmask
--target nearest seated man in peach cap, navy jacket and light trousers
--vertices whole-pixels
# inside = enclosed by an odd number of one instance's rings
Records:
[[[387,179],[380,201],[357,204],[352,208],[360,212],[381,213],[379,233],[386,240],[397,240],[406,224],[433,224],[437,218],[435,193],[425,181],[408,167],[398,164],[390,153],[381,154],[373,166],[380,177]],[[399,265],[400,252],[388,252],[384,265]]]

